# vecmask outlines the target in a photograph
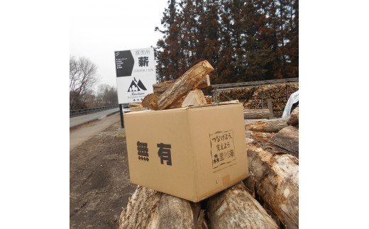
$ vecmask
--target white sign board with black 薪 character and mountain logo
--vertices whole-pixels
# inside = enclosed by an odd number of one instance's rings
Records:
[[[116,51],[116,88],[119,104],[142,102],[156,84],[154,48]]]

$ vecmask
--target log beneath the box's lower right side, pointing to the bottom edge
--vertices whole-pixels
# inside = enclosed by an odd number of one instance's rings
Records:
[[[211,196],[206,210],[211,228],[279,228],[242,183]]]

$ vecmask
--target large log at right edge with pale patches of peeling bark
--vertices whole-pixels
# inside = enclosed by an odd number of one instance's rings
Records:
[[[290,154],[247,145],[249,169],[255,190],[285,228],[299,227],[299,160]]]

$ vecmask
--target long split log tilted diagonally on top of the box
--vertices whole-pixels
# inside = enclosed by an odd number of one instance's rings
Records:
[[[158,110],[170,107],[178,101],[178,99],[181,99],[182,96],[187,94],[188,91],[196,89],[206,74],[209,74],[209,72],[213,70],[214,68],[211,67],[207,60],[194,65],[194,67],[185,72],[182,77],[178,78],[170,88],[158,96]]]

